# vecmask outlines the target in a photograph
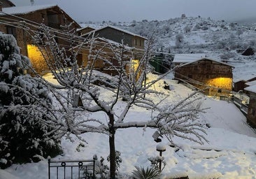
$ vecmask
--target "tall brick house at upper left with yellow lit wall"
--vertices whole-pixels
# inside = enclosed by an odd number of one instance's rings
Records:
[[[66,14],[64,10],[54,5],[1,8],[0,22],[0,31],[4,34],[13,34],[15,36],[21,54],[31,59],[31,64],[38,73],[47,71],[48,66],[45,64],[38,46],[36,46],[29,33],[20,27],[31,24],[29,29],[38,31],[36,28],[39,24],[44,23],[55,31],[64,31],[64,26],[68,24],[71,24],[71,29],[76,30],[80,28],[80,25]],[[69,47],[70,42],[64,40],[64,38],[56,37],[55,41],[64,48]]]

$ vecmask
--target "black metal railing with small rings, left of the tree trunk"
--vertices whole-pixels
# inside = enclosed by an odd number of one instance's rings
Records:
[[[96,162],[96,159],[92,159],[92,160],[48,159],[48,179],[95,178],[95,162]],[[55,168],[56,170],[54,171],[52,168]]]

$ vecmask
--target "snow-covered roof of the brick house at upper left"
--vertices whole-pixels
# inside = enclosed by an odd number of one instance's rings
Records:
[[[36,10],[43,10],[46,8],[52,8],[57,5],[40,5],[40,6],[15,6],[10,8],[3,8],[2,12],[6,14],[27,14]],[[3,15],[1,13],[1,15]]]

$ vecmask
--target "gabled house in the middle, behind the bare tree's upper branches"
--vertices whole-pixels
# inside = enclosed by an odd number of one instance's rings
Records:
[[[115,47],[118,48],[126,48],[129,52],[127,52],[126,54],[127,57],[125,58],[125,62],[127,63],[127,66],[129,66],[129,63],[134,64],[133,66],[135,69],[136,64],[138,64],[139,60],[143,55],[145,41],[148,40],[143,36],[139,36],[137,34],[113,26],[102,27],[100,29],[85,27],[78,30],[78,34],[81,34],[83,38],[97,38],[98,47],[109,43],[113,44]],[[118,61],[113,57],[113,51],[111,51],[111,48],[108,48],[108,46],[101,50],[105,51],[106,54],[108,54],[107,58],[109,59],[109,62],[113,63],[114,68],[113,66],[111,67],[100,59],[96,63],[94,63],[94,66],[92,68],[104,73],[108,73],[111,76],[115,76],[117,74],[116,69],[118,68]],[[83,54],[83,60],[82,62],[79,62],[79,64],[83,63],[82,66],[86,66],[89,61],[89,49],[84,48],[81,54]],[[125,67],[125,69],[127,69],[128,73],[128,67]]]

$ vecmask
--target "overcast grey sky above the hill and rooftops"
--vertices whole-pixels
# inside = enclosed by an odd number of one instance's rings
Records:
[[[30,0],[10,1],[31,5]],[[57,4],[77,22],[168,20],[183,13],[214,20],[256,19],[256,0],[34,0],[34,6],[41,4]]]

